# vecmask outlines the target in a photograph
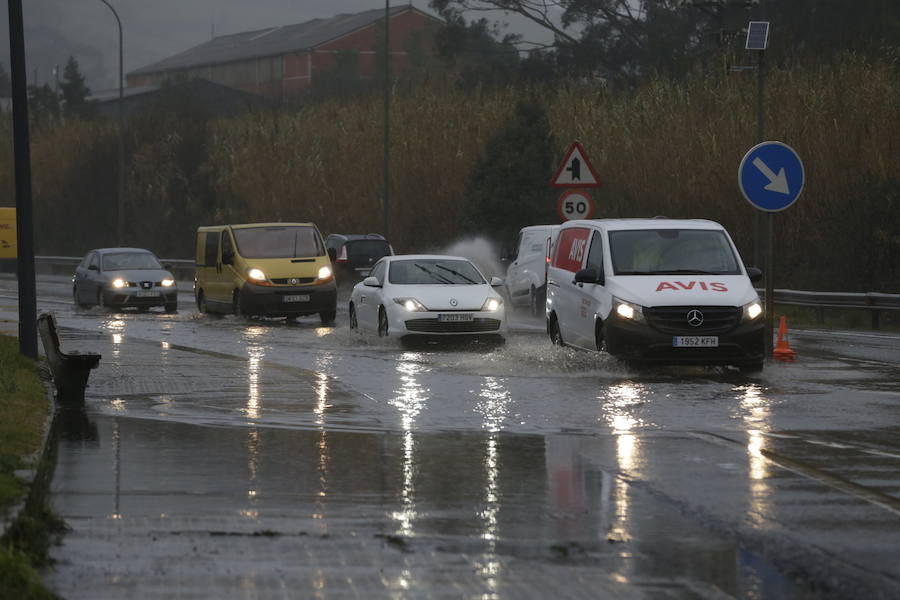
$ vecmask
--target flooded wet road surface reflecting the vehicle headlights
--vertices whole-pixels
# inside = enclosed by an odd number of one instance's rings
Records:
[[[0,296],[14,294],[0,281]],[[896,597],[900,340],[793,332],[758,375],[75,309],[67,598]],[[7,316],[14,301],[0,299]],[[14,314],[13,314],[14,317]]]

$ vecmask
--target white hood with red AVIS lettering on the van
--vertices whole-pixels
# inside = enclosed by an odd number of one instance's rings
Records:
[[[744,275],[619,275],[607,279],[617,298],[641,306],[742,306],[758,295]]]

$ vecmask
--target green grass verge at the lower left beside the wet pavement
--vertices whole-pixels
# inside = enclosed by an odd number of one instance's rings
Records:
[[[44,457],[48,464],[27,462],[41,449],[48,410],[38,364],[19,353],[17,339],[0,335],[0,511],[8,512],[29,494],[0,540],[0,598],[57,598],[35,570],[49,564],[50,543],[64,529],[47,498],[55,456]],[[38,473],[30,490],[15,477],[15,470],[26,466]]]

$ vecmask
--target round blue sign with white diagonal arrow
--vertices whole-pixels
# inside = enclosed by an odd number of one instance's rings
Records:
[[[796,202],[805,181],[800,157],[781,142],[753,146],[738,167],[738,185],[744,198],[766,212],[778,212]]]

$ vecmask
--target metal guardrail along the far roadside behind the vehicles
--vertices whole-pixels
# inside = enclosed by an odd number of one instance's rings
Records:
[[[38,273],[52,275],[71,275],[81,262],[81,257],[72,256],[35,256],[35,269]],[[164,265],[171,266],[172,274],[179,281],[194,280],[194,261],[191,259],[163,258]],[[763,290],[757,290],[762,297]],[[816,321],[825,322],[826,309],[862,309],[872,316],[872,329],[880,326],[880,315],[885,310],[900,310],[900,294],[881,294],[878,292],[807,292],[802,290],[775,290],[775,304],[786,306],[808,306],[816,309]]]

